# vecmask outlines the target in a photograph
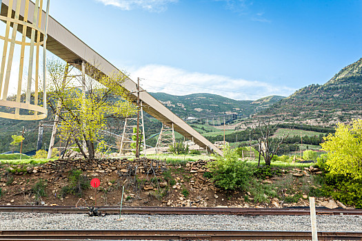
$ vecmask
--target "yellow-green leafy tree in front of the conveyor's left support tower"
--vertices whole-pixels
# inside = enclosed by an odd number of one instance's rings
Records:
[[[48,62],[47,68],[48,105],[59,116],[61,139],[66,143],[74,141],[84,158],[93,159],[94,143],[101,140],[101,130],[108,120],[137,112],[123,87],[126,76],[121,73],[105,76],[89,64],[85,79],[67,78],[72,70],[59,61]]]

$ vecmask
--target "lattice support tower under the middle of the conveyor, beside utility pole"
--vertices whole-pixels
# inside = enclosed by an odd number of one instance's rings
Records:
[[[140,116],[140,122],[139,122],[139,129],[141,131],[139,138],[143,138],[143,154],[145,154],[145,125],[143,124],[143,107],[141,102],[141,116]],[[137,115],[132,117],[125,118],[125,123],[123,126],[123,134],[121,137],[121,145],[119,147],[119,154],[125,154],[127,152],[136,151],[136,145],[132,147],[132,143],[136,144],[137,133],[133,133],[133,128],[137,128]],[[134,136],[134,138],[132,138]]]

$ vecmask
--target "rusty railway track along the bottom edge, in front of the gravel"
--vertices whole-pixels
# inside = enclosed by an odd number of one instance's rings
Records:
[[[362,240],[362,232],[318,232],[319,240]],[[0,240],[312,240],[308,231],[31,230],[0,231]]]

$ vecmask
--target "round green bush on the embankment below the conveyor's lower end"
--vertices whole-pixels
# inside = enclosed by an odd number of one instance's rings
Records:
[[[239,160],[236,151],[225,148],[224,156],[217,156],[217,160],[210,164],[212,180],[225,190],[247,189],[252,171],[245,163],[246,161]]]

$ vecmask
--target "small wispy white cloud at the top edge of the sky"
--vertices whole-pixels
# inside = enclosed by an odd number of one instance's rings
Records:
[[[167,9],[169,3],[177,3],[179,0],[97,0],[110,6],[116,6],[121,10],[133,10],[141,8],[149,12],[162,12]]]

